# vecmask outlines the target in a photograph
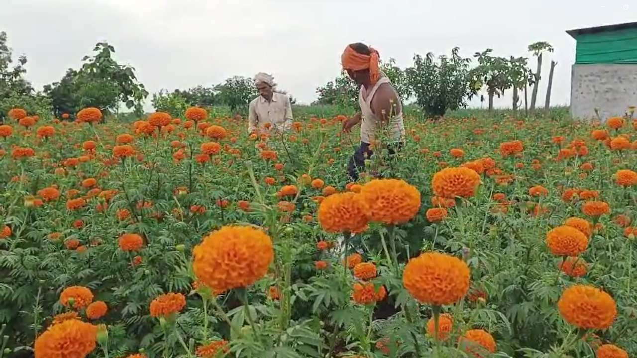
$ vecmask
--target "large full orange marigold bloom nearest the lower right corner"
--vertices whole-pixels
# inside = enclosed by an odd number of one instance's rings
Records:
[[[582,329],[606,329],[617,316],[613,297],[587,285],[573,285],[564,290],[557,309],[568,324]]]

